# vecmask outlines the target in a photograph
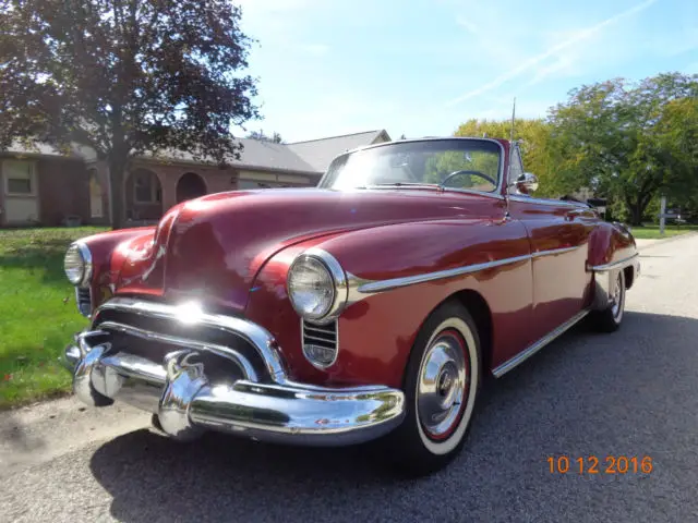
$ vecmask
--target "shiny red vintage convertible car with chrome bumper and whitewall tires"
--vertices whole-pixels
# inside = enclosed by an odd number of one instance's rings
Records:
[[[65,349],[74,392],[180,440],[381,438],[438,470],[486,375],[587,315],[617,329],[638,277],[628,229],[537,185],[516,143],[400,141],[342,154],[315,188],[212,194],[75,242],[92,325]]]

